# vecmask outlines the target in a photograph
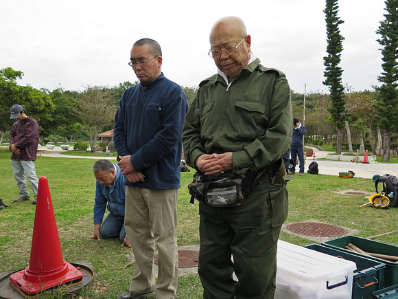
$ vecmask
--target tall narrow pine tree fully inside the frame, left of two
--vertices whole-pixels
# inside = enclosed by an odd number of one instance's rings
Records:
[[[342,151],[342,131],[345,127],[346,109],[344,98],[344,87],[342,85],[342,69],[339,67],[340,56],[342,52],[342,41],[344,37],[340,34],[339,25],[344,23],[338,17],[338,0],[326,0],[327,28],[327,53],[323,58],[325,65],[325,81],[324,85],[329,87],[331,107],[328,109],[331,119],[337,129],[337,146],[336,153],[341,154]]]

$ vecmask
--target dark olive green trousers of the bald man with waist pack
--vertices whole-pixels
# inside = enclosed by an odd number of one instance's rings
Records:
[[[199,204],[203,298],[274,298],[277,241],[288,216],[288,191],[285,184],[270,184],[267,176],[260,183],[242,206]]]

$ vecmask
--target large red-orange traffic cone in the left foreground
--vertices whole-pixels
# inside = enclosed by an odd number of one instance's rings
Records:
[[[11,274],[10,283],[23,296],[34,296],[58,285],[78,285],[82,278],[82,272],[62,257],[47,177],[40,177],[30,263],[25,269]]]

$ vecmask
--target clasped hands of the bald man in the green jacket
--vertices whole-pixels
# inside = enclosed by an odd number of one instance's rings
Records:
[[[204,175],[224,173],[233,169],[232,153],[200,155],[196,158],[195,165]]]

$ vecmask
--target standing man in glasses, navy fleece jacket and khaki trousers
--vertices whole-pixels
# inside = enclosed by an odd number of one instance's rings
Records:
[[[140,82],[121,96],[113,140],[118,165],[126,175],[125,225],[135,270],[129,290],[118,299],[172,299],[178,278],[177,199],[188,102],[183,89],[161,71],[159,43],[142,38],[132,46],[129,58]]]

